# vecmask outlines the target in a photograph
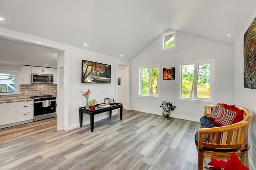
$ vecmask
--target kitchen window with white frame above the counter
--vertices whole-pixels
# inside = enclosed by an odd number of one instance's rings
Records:
[[[19,71],[0,70],[0,96],[20,93]]]

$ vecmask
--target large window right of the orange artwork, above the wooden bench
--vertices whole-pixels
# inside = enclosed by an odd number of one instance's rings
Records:
[[[181,98],[193,100],[214,100],[214,62],[182,64]]]

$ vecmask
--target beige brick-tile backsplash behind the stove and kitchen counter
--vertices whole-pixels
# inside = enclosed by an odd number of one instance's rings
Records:
[[[0,100],[22,99],[30,98],[30,96],[44,95],[57,96],[57,84],[20,85],[20,92],[22,92],[22,94],[0,96]],[[26,92],[28,92],[28,94],[26,94]]]

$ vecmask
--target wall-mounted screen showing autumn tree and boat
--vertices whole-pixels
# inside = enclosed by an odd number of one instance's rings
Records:
[[[111,65],[82,60],[82,83],[110,83]]]

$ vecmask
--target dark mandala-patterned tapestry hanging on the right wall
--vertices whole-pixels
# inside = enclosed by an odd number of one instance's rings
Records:
[[[256,89],[256,18],[244,33],[244,87]]]

